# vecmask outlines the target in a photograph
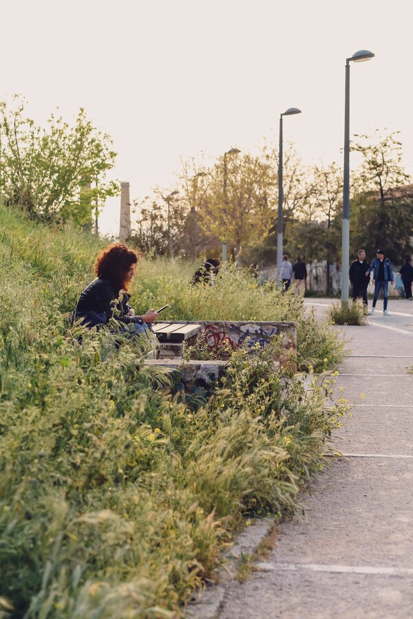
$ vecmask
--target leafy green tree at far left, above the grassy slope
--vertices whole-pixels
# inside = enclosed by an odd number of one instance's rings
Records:
[[[0,102],[0,193],[44,219],[87,224],[118,186],[105,182],[116,153],[106,133],[97,131],[81,108],[71,127],[54,114],[47,129],[25,115],[25,101]],[[93,188],[87,188],[93,183]]]

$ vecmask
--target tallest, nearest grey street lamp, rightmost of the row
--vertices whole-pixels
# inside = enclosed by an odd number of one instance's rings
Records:
[[[359,50],[346,60],[346,95],[344,103],[343,228],[341,237],[341,306],[348,307],[348,265],[350,263],[350,61],[363,63],[374,58],[373,52]]]

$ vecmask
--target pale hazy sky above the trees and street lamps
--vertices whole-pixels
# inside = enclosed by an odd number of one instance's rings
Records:
[[[346,58],[350,134],[401,131],[413,173],[409,0],[0,0],[0,98],[22,94],[38,121],[85,107],[118,152],[131,200],[173,184],[180,158],[206,162],[264,138],[304,163],[342,165]],[[351,166],[350,160],[350,166]],[[118,232],[120,199],[100,217]]]

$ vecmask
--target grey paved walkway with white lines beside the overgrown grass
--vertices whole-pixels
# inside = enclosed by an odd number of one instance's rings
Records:
[[[330,299],[306,299],[322,314]],[[370,301],[371,305],[371,301]],[[273,552],[224,596],[220,619],[413,618],[413,302],[377,303],[367,327],[337,327],[350,354],[337,380],[352,417],[342,457],[281,525]]]

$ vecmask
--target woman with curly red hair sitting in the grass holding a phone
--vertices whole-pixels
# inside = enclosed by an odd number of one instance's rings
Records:
[[[113,243],[100,252],[94,267],[96,279],[81,293],[73,312],[74,320],[83,318],[82,324],[91,328],[116,318],[123,323],[121,331],[145,332],[159,314],[148,310],[143,316],[135,316],[129,305],[127,291],[137,264],[138,254],[123,243]]]

